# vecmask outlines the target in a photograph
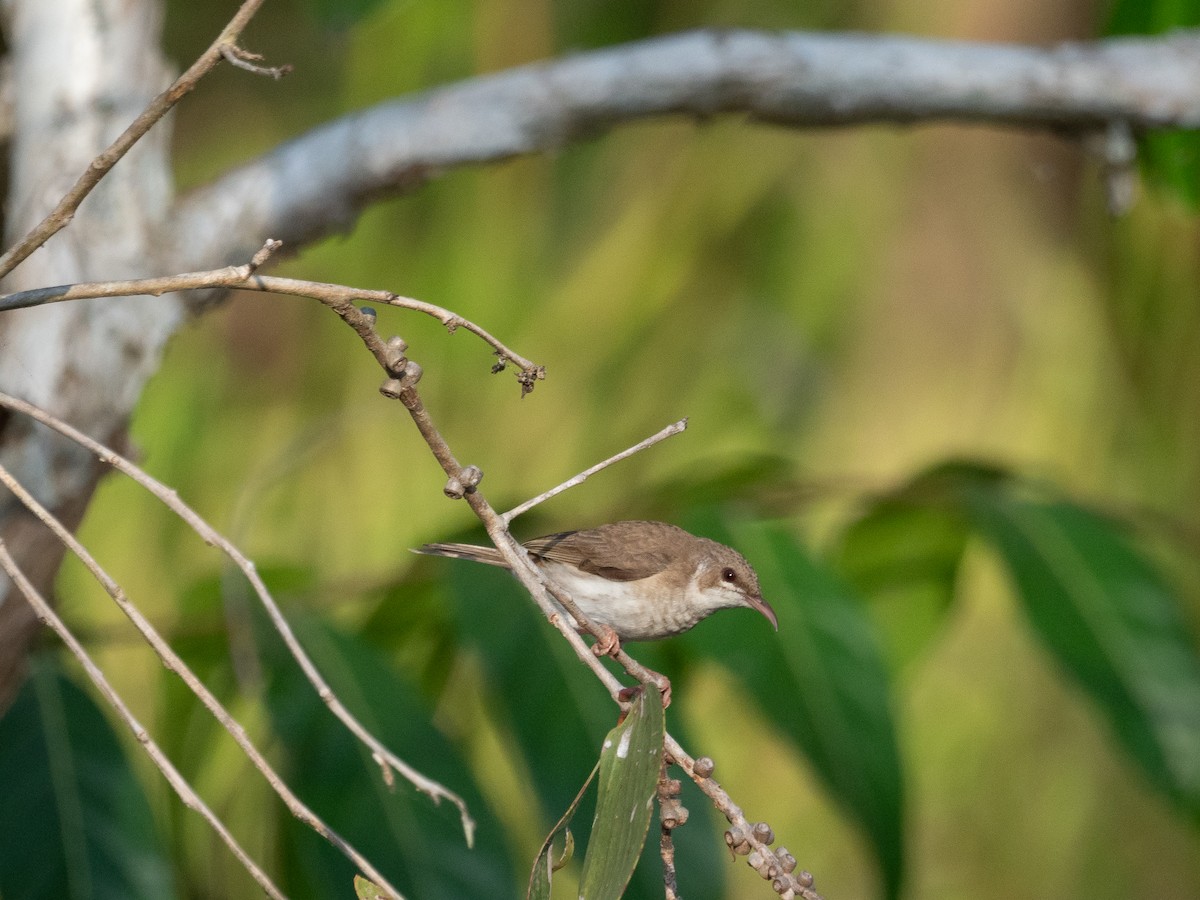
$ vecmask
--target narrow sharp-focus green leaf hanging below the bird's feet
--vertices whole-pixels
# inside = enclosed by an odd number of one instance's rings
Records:
[[[625,720],[604,742],[600,796],[580,876],[581,900],[618,900],[634,874],[654,811],[664,721],[662,695],[654,685],[643,685]]]

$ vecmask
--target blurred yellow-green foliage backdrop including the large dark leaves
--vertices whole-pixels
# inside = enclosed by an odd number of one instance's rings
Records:
[[[227,14],[172,2],[167,47],[186,64]],[[1086,36],[1073,14],[281,0],[247,44],[295,74],[218,70],[179,110],[178,178],[203,184],[388,97],[682,28],[1045,42]],[[1102,187],[1044,136],[664,120],[448,173],[284,269],[446,306],[546,365],[521,400],[469,335],[380,313],[499,508],[690,416],[518,532],[670,518],[760,568],[778,636],[727,613],[634,653],[672,677],[668,730],[716,760],[827,898],[1192,898],[1200,234],[1160,193],[1111,222]],[[517,895],[616,710],[508,576],[406,552],[473,522],[380,380],[316,304],[239,296],[179,336],[133,434],[146,468],[258,560],[346,702],[469,797],[476,851],[445,804],[382,788],[240,581],[176,520],[109,479],[83,534],[301,796],[412,896]],[[953,462],[967,458],[997,462]],[[289,895],[348,896],[348,866],[277,808],[76,566],[60,594]],[[257,895],[127,756],[181,894]],[[683,895],[762,896],[707,800],[683,799]],[[575,820],[581,851],[593,805]],[[629,896],[661,895],[648,844]],[[580,858],[556,895],[574,895]]]

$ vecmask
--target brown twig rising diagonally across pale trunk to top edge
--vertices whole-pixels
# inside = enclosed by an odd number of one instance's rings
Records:
[[[84,198],[91,193],[96,185],[100,184],[101,179],[109,173],[121,157],[125,156],[125,154],[127,154],[130,149],[170,110],[172,107],[190,94],[214,66],[224,59],[224,48],[236,44],[238,37],[262,5],[263,0],[245,0],[238,12],[234,13],[234,17],[229,20],[229,24],[222,29],[217,40],[214,41],[203,54],[200,54],[200,58],[197,59],[196,62],[193,62],[188,70],[184,72],[184,74],[176,78],[174,84],[150,101],[150,104],[137,119],[133,120],[133,124],[121,132],[120,137],[109,144],[108,148],[100,154],[100,156],[91,161],[91,164],[88,166],[71,190],[62,196],[62,199],[58,202],[46,218],[38,222],[25,234],[24,238],[17,241],[17,244],[10,247],[5,254],[0,257],[0,277],[4,277],[20,265],[20,263],[24,262],[30,253],[46,244],[46,241],[54,236],[54,234],[62,230],[67,226],[74,216],[74,211],[79,208],[79,204],[83,203]]]

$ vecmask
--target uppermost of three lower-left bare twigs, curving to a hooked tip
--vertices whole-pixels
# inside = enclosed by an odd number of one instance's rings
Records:
[[[474,842],[475,834],[475,822],[467,809],[467,803],[458,794],[449,788],[442,786],[437,781],[422,775],[420,772],[414,769],[412,766],[401,760],[396,754],[389,750],[384,744],[376,738],[367,728],[359,722],[359,720],[342,704],[337,695],[329,686],[325,679],[320,676],[320,672],[313,665],[312,660],[305,653],[304,647],[296,640],[295,634],[292,631],[290,625],[288,625],[287,619],[283,617],[282,611],[275,602],[266,586],[263,583],[262,577],[258,575],[258,570],[254,564],[247,559],[242,553],[220,532],[217,532],[212,526],[204,521],[199,514],[191,509],[187,504],[179,499],[179,496],[172,491],[169,487],[156,480],[154,476],[138,468],[134,463],[126,460],[124,456],[104,446],[97,440],[88,437],[83,432],[76,430],[74,427],[67,425],[66,422],[56,419],[46,410],[36,407],[31,403],[26,403],[17,397],[8,396],[7,394],[0,392],[0,406],[14,409],[19,413],[29,415],[36,421],[54,428],[64,437],[76,442],[80,446],[90,450],[96,457],[109,466],[112,466],[118,472],[133,479],[137,484],[142,485],[146,491],[154,494],[158,500],[161,500],[166,506],[168,506],[176,516],[184,520],[194,530],[200,539],[217,550],[223,552],[229,559],[233,560],[242,574],[250,581],[251,587],[262,601],[263,607],[266,610],[275,629],[280,632],[283,642],[287,644],[288,650],[292,656],[296,660],[296,664],[304,671],[305,677],[313,685],[318,696],[329,707],[330,712],[336,715],[343,725],[361,740],[367,748],[370,748],[372,756],[383,770],[383,778],[386,782],[391,782],[391,770],[395,769],[404,779],[407,779],[418,791],[431,797],[434,802],[446,799],[458,808],[460,817],[462,818],[463,834],[466,836],[467,844]],[[22,488],[23,490],[23,488]],[[73,538],[71,539],[73,552],[79,554],[79,551],[74,551]],[[86,553],[86,551],[83,551]],[[80,556],[80,558],[83,558]],[[169,647],[167,648],[169,652]],[[191,686],[191,685],[190,685]]]

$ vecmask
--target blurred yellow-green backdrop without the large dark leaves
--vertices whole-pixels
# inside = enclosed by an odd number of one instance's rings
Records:
[[[295,72],[276,84],[223,67],[181,104],[181,191],[389,97],[679,29],[1040,44],[1093,37],[1110,14],[1104,4],[1028,0],[360,5],[265,6],[246,46]],[[167,46],[180,66],[228,13],[227,4],[168,5]],[[986,127],[797,132],[736,116],[658,120],[554,155],[448,173],[277,270],[445,306],[546,366],[547,379],[522,400],[510,373],[488,374],[487,348],[470,335],[446,335],[416,313],[379,314],[380,332],[408,341],[431,414],[458,458],[482,468],[482,490],[500,509],[689,418],[684,434],[520,521],[521,536],[619,518],[689,523],[715,504],[733,520],[769,514],[820,558],[870,497],[947,460],[983,460],[1144,526],[1194,636],[1196,221],[1176,193],[1145,186],[1132,212],[1112,220],[1100,175],[1074,143]],[[473,883],[523,894],[558,815],[533,794],[546,781],[574,793],[594,754],[574,770],[539,770],[527,732],[493,702],[515,683],[497,682],[466,640],[469,625],[446,612],[457,590],[486,606],[494,628],[512,626],[503,640],[517,652],[534,646],[522,629],[550,646],[504,576],[407,552],[478,530],[463,504],[442,496],[440,470],[403,409],[378,395],[380,380],[318,304],[239,295],[174,341],[133,438],[145,468],[257,560],[308,640],[364,641],[380,672],[414,686],[412,719],[396,713],[383,727],[419,745],[431,728],[425,746],[452,745],[469,774],[438,774],[455,790],[466,790],[463,779],[478,786],[492,810],[481,841],[503,850],[484,858],[508,859]],[[259,638],[247,637],[257,625],[210,548],[118,479],[102,485],[83,536],[252,731],[304,733],[278,719],[266,727],[247,686],[264,665]],[[265,787],[160,684],[161,666],[74,566],[61,598],[252,851],[290,872],[295,895],[335,895],[306,882],[282,816],[263,822],[274,809]],[[902,761],[906,896],[1200,895],[1195,820],[1150,786],[1063,678],[991,553],[966,548],[953,604],[918,649],[893,640],[886,613],[870,616]],[[305,631],[306,622],[317,624]],[[697,647],[720,640],[720,622],[697,629],[708,629]],[[750,641],[798,640],[782,614],[781,624],[779,637],[738,626]],[[646,650],[680,676],[668,728],[718,761],[718,779],[751,820],[772,823],[826,898],[884,890],[870,841],[796,742],[746,702],[736,666],[684,659],[683,647]],[[588,679],[564,683],[594,710],[584,731],[595,730],[598,748],[611,707]],[[553,720],[542,727],[553,740]],[[308,749],[313,758],[290,761],[301,782],[325,772],[316,744]],[[370,793],[370,767],[360,778]],[[156,776],[144,784],[181,895],[256,895]],[[408,803],[418,821],[432,815],[454,832],[452,811]],[[697,817],[702,805],[689,803]],[[713,835],[684,895],[768,895],[728,860],[720,828]],[[372,854],[385,870],[389,852]],[[406,852],[419,870],[420,854]],[[650,887],[635,883],[630,895],[655,895],[653,859],[648,868]],[[452,895],[412,877],[412,896]]]

